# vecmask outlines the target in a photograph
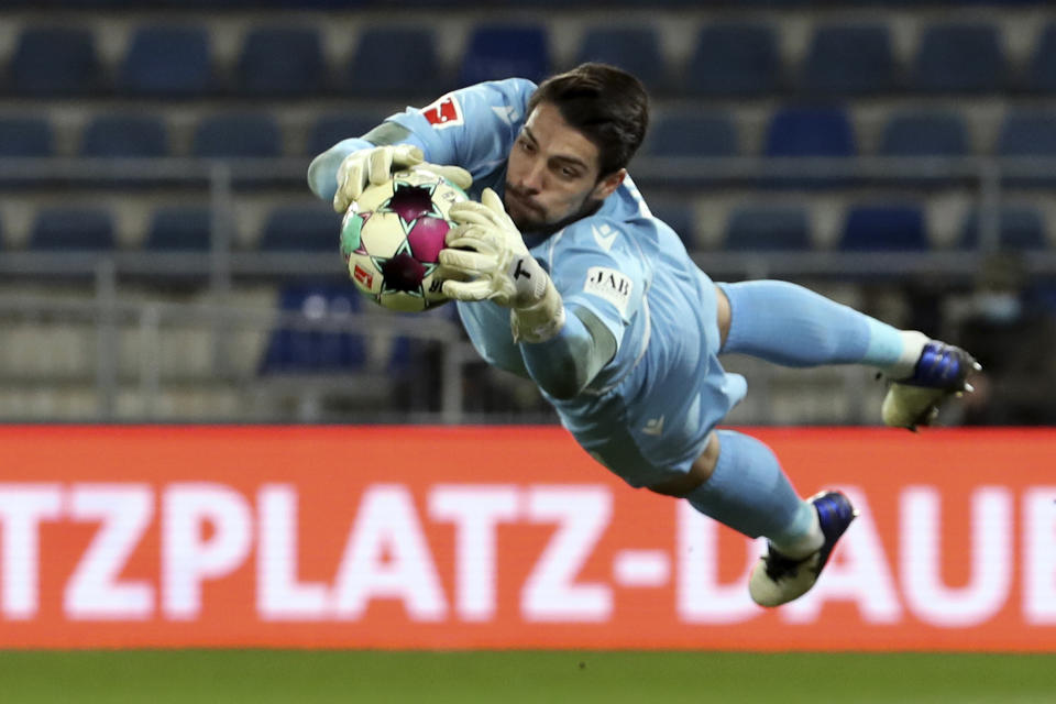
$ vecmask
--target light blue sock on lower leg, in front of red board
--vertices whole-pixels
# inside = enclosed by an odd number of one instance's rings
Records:
[[[816,512],[796,495],[770,448],[733,430],[716,433],[715,471],[685,499],[750,538],[766,536],[778,544],[802,540],[815,526]]]

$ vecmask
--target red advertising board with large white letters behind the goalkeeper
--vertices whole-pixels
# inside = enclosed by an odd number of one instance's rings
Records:
[[[0,648],[1056,650],[1056,431],[745,432],[861,512],[778,609],[560,428],[6,427]]]

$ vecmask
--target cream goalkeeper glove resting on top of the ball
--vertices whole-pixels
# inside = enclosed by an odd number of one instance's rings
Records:
[[[352,152],[342,160],[338,167],[333,209],[344,212],[369,185],[384,184],[394,172],[414,167],[428,168],[462,189],[473,184],[470,172],[459,166],[429,164],[421,150],[413,144],[386,144]]]

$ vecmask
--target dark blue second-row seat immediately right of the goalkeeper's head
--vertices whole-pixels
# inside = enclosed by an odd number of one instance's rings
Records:
[[[653,156],[736,156],[738,146],[729,114],[668,111],[657,116],[642,151]]]

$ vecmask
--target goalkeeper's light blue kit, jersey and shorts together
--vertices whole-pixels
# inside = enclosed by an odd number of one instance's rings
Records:
[[[473,175],[471,196],[502,194],[506,158],[526,119],[535,84],[485,82],[422,109],[388,118],[410,131],[426,161]],[[369,146],[345,140],[332,168],[312,189],[332,197],[334,173],[348,153]],[[328,153],[329,154],[329,153]],[[616,339],[615,358],[575,398],[548,397],[562,424],[602,464],[634,486],[689,471],[712,428],[739,402],[745,380],[718,363],[719,333],[712,280],[674,231],[649,212],[628,177],[593,216],[550,235],[524,233],[570,312],[585,308]],[[459,302],[477,352],[491,364],[528,376],[514,343],[509,311],[491,301]]]

